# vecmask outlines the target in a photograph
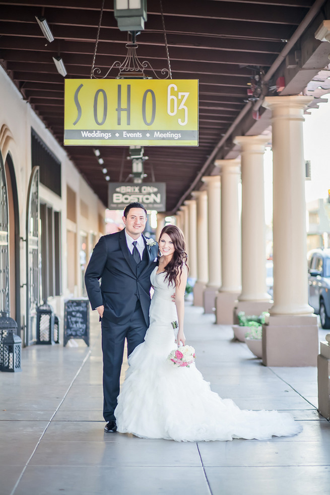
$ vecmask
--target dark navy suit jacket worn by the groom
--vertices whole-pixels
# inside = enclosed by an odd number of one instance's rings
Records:
[[[103,304],[103,318],[110,322],[127,323],[140,300],[149,326],[150,274],[158,264],[158,244],[147,246],[143,239],[139,265],[128,250],[124,230],[103,235],[94,248],[85,273],[86,290],[92,309]]]

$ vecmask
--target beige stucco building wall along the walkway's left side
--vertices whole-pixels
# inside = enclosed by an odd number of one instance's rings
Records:
[[[86,232],[90,239],[98,239],[99,215],[105,216],[105,207],[97,198],[96,194],[80,175],[74,163],[68,158],[65,150],[59,145],[54,136],[49,132],[44,123],[32,110],[30,104],[23,100],[22,95],[7,76],[6,72],[0,68],[0,129],[5,130],[8,139],[6,146],[2,148],[3,160],[6,161],[7,153],[12,157],[14,171],[17,182],[17,194],[19,203],[19,225],[20,225],[20,285],[26,282],[26,245],[22,239],[26,238],[26,202],[29,179],[31,174],[31,127],[44,141],[51,152],[61,162],[61,198],[40,184],[39,199],[41,202],[51,206],[54,210],[61,212],[61,248],[62,248],[62,295],[49,299],[53,304],[56,314],[59,317],[63,313],[63,299],[70,296],[68,289],[68,263],[67,263],[67,230],[74,229],[77,233],[76,259],[78,283],[75,295],[82,294],[82,273],[80,267],[80,243],[81,232]],[[67,220],[67,184],[76,193],[77,201],[77,222],[73,225]],[[88,205],[88,218],[82,216],[80,212],[81,199]],[[91,243],[91,242],[90,242]],[[92,246],[89,245],[89,251]],[[90,254],[90,253],[89,253]],[[11,291],[14,287],[11,287]],[[26,289],[21,289],[21,315],[26,313]],[[23,321],[23,318],[22,318]]]

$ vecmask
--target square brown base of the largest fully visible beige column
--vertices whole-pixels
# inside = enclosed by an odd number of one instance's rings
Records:
[[[262,363],[266,366],[316,366],[318,326],[315,315],[271,316],[262,325]]]

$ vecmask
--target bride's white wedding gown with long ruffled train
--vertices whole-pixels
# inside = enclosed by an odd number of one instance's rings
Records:
[[[167,356],[176,348],[174,287],[165,272],[151,274],[155,288],[145,342],[128,358],[129,368],[114,411],[117,430],[137,437],[176,441],[265,440],[301,431],[290,414],[241,410],[210,389],[195,364],[177,367]]]

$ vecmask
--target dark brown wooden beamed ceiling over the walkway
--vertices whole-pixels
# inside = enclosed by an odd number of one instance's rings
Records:
[[[169,212],[187,197],[201,171],[210,173],[215,148],[246,105],[250,77],[258,68],[267,74],[313,3],[162,0],[173,79],[199,79],[200,87],[199,147],[145,151],[146,180],[167,183]],[[52,56],[62,57],[67,78],[90,77],[101,6],[102,0],[0,1],[0,61],[61,145],[64,84]],[[47,19],[53,42],[44,38],[35,16]],[[115,60],[123,60],[126,42],[127,33],[117,28],[113,0],[105,0],[95,66],[106,72]],[[167,67],[159,0],[148,0],[146,29],[137,42],[141,60],[149,60],[156,72]],[[101,147],[102,166],[92,147],[66,150],[105,205],[102,168],[115,182],[126,180],[131,171],[127,147]]]

